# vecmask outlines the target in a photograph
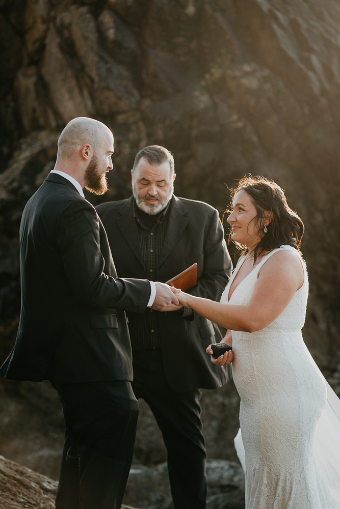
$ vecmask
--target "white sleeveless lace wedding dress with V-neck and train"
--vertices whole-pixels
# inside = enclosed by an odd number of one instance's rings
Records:
[[[244,257],[241,257],[221,302],[247,305],[258,271],[280,249],[291,249],[297,253],[290,246],[281,246],[268,253],[241,281],[228,300],[232,280],[244,261]],[[304,283],[274,322],[257,332],[231,332],[235,353],[232,373],[241,397],[246,509],[340,507],[340,457],[334,456],[334,443],[330,443],[330,440],[340,440],[340,419],[335,412],[333,435],[327,436],[324,428],[328,430],[328,420],[323,411],[327,389],[332,390],[327,388],[302,339],[301,328],[308,296],[304,262],[302,265]],[[333,392],[332,398],[333,406],[328,403],[328,411],[332,413],[335,410],[340,414],[339,400]],[[322,414],[323,428],[320,431],[324,435],[321,437],[324,443],[319,449],[323,457],[318,461],[315,437]],[[331,446],[333,463],[324,457],[325,442]],[[244,452],[240,436],[236,446],[242,457]],[[333,485],[329,486],[327,482]]]

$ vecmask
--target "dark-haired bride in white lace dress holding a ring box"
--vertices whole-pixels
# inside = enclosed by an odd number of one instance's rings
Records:
[[[242,256],[221,302],[184,292],[177,297],[228,329],[223,342],[233,350],[211,359],[232,361],[241,397],[246,509],[338,509],[339,460],[332,448],[340,437],[334,413],[340,404],[301,334],[308,296],[299,251],[303,223],[282,189],[265,178],[242,179],[232,197],[227,221]]]

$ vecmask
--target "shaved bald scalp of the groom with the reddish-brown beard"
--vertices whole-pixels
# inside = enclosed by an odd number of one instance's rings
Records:
[[[98,120],[87,117],[73,119],[67,124],[59,137],[58,155],[70,158],[84,144],[89,144],[96,152],[103,134],[108,132],[112,136],[110,129]]]

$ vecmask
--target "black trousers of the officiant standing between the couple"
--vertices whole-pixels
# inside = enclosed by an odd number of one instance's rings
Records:
[[[205,509],[206,451],[199,390],[175,392],[169,386],[161,349],[133,352],[136,398],[149,405],[168,453],[171,495],[175,509]]]

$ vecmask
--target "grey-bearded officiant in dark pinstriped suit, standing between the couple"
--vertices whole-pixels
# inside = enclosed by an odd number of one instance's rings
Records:
[[[173,194],[174,159],[152,145],[136,155],[133,195],[96,207],[119,277],[168,281],[197,263],[192,295],[219,300],[231,260],[218,211]],[[161,313],[126,313],[133,349],[136,398],[149,405],[163,434],[174,509],[206,506],[206,451],[200,388],[229,378],[205,349],[222,339],[218,327],[192,309],[170,305]]]

